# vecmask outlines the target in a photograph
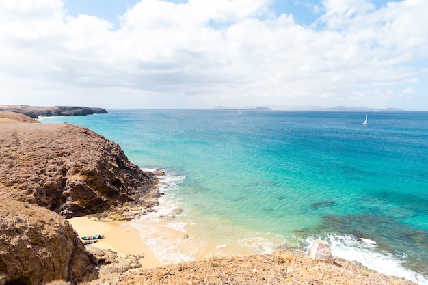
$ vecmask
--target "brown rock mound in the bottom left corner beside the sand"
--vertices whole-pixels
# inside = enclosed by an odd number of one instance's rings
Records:
[[[66,219],[0,196],[0,284],[78,284],[96,277],[94,262]]]

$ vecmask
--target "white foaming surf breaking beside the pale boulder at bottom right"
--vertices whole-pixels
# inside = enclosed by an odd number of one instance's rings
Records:
[[[357,239],[355,236],[310,236],[305,243],[310,245],[317,239],[323,239],[329,243],[332,255],[345,260],[356,261],[363,266],[384,273],[385,275],[403,277],[420,285],[428,285],[428,278],[424,275],[403,267],[406,256],[398,256],[386,252],[377,246],[371,239]]]

